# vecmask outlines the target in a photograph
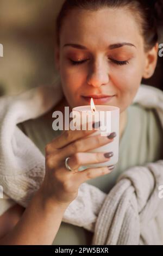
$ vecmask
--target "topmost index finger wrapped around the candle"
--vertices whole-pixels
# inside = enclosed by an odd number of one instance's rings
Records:
[[[75,131],[65,131],[57,138],[53,139],[51,143],[48,143],[46,146],[46,152],[51,154],[55,152],[57,149],[61,149],[66,147],[66,145],[86,136],[91,135],[92,133],[96,132],[97,127],[100,126],[100,122],[97,123],[88,123],[88,127],[92,127],[92,130],[82,130],[82,126],[80,126],[81,130]],[[96,129],[96,130],[95,130]]]

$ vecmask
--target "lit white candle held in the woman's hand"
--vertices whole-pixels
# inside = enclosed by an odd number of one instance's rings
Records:
[[[90,106],[79,106],[72,110],[73,113],[73,123],[77,124],[76,127],[81,127],[83,130],[92,130],[92,123],[95,121],[100,121],[101,126],[95,127],[97,130],[90,136],[95,136],[101,133],[101,136],[109,136],[110,133],[116,132],[116,137],[114,141],[108,143],[100,148],[89,151],[90,153],[102,152],[109,153],[113,152],[114,156],[104,163],[89,164],[89,167],[102,167],[115,165],[118,162],[118,152],[119,152],[119,130],[120,130],[120,108],[115,106],[97,105],[91,99]],[[87,128],[87,124],[90,126]]]

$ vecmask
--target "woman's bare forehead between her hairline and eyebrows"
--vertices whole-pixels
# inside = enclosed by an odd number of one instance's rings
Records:
[[[140,25],[131,11],[124,8],[103,8],[98,11],[75,9],[68,14],[61,29],[61,45],[81,43],[87,47],[127,41],[139,45]]]

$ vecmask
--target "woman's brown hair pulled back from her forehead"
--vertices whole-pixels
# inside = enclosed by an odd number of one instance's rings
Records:
[[[66,0],[57,17],[57,44],[60,45],[62,24],[71,10],[82,9],[96,11],[105,7],[128,8],[141,24],[141,33],[145,40],[145,48],[149,50],[159,40],[158,25],[163,16],[163,0]],[[136,15],[135,15],[136,14]]]

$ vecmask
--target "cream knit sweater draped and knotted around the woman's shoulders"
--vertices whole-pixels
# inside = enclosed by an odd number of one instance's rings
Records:
[[[16,124],[48,112],[61,97],[60,88],[46,86],[0,99],[0,182],[24,207],[43,180],[45,157]],[[141,85],[134,102],[155,108],[163,131],[163,93]],[[163,245],[160,185],[163,160],[129,168],[109,194],[84,183],[62,221],[94,232],[92,245]]]

